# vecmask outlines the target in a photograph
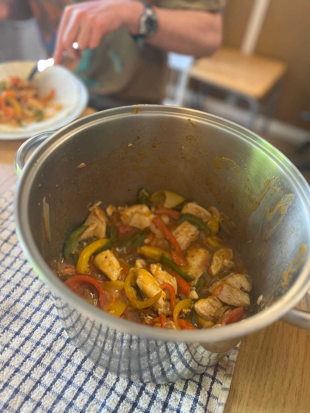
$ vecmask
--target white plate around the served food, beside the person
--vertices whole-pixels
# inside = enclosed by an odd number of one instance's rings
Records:
[[[7,62],[0,64],[0,81],[16,76],[26,79],[36,62]],[[55,89],[55,104],[61,104],[62,109],[46,121],[32,122],[24,127],[0,125],[0,140],[15,140],[29,138],[37,133],[61,128],[77,119],[88,103],[88,90],[83,82],[63,66],[51,66],[33,77],[33,83],[38,87],[39,94],[48,95],[50,89]]]

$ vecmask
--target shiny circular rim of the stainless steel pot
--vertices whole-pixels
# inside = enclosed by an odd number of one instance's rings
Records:
[[[38,149],[31,155],[26,163],[26,166],[21,172],[14,197],[15,225],[24,253],[38,276],[50,287],[52,292],[84,316],[129,335],[162,340],[165,342],[203,343],[243,337],[250,332],[260,330],[261,328],[272,324],[274,321],[284,316],[298,303],[298,301],[300,301],[300,299],[302,299],[305,292],[310,287],[309,251],[298,278],[293,283],[291,288],[281,298],[279,298],[277,302],[270,304],[270,306],[265,307],[265,309],[259,313],[254,314],[240,323],[227,325],[225,328],[208,329],[207,333],[206,330],[197,329],[191,331],[191,334],[188,334],[186,330],[147,328],[145,325],[133,323],[122,318],[116,318],[109,313],[100,310],[98,307],[93,307],[87,301],[84,301],[81,297],[77,296],[69,288],[66,288],[62,281],[55,276],[50,267],[45,263],[41,253],[33,241],[33,238],[30,235],[31,228],[27,219],[29,193],[40,162],[48,156],[48,152],[51,152],[51,147],[55,149],[56,146],[60,145],[64,140],[67,140],[70,137],[70,133],[76,131],[78,128],[85,128],[91,123],[102,121],[103,119],[107,120],[111,117],[135,116],[135,111],[133,111],[133,109],[136,109],[139,114],[142,112],[147,115],[163,114],[165,116],[186,116],[190,117],[193,121],[197,120],[217,124],[217,126],[221,126],[226,130],[230,129],[234,131],[234,133],[237,133],[239,138],[246,140],[250,145],[254,145],[258,149],[262,150],[262,152],[267,154],[279,168],[286,172],[286,176],[289,180],[291,180],[291,182],[294,183],[296,192],[303,200],[304,207],[308,211],[308,223],[305,223],[305,225],[308,225],[310,228],[310,188],[308,183],[300,171],[298,171],[291,161],[289,161],[289,159],[252,131],[249,131],[243,126],[223,119],[219,116],[207,114],[194,109],[162,105],[137,105],[135,107],[127,106],[107,109],[105,111],[96,112],[86,116],[85,118],[78,119],[59,129],[56,133],[51,135],[50,138],[43,142],[40,147],[38,147]]]

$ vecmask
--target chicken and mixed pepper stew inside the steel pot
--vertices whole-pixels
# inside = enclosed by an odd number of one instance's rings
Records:
[[[57,276],[114,316],[171,329],[215,328],[246,318],[251,279],[219,233],[224,214],[170,191],[139,204],[90,208],[69,235]]]

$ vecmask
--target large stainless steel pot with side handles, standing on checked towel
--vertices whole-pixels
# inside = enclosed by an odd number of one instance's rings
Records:
[[[122,107],[31,138],[15,166],[17,173],[23,168],[15,221],[24,252],[50,286],[74,344],[110,372],[171,382],[205,371],[240,337],[279,318],[309,328],[309,314],[291,309],[310,285],[310,188],[288,159],[247,129],[191,109]],[[191,332],[147,328],[94,308],[55,276],[51,268],[87,206],[136,202],[142,186],[216,205],[231,218],[227,238],[253,277],[252,317]]]

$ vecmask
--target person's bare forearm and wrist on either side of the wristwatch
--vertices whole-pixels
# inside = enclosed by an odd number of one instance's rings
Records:
[[[210,56],[219,47],[222,40],[220,13],[158,7],[154,9],[158,17],[157,33],[147,38],[147,43],[165,51],[196,57]],[[137,34],[143,12],[141,3],[132,12],[127,28],[132,34]]]

